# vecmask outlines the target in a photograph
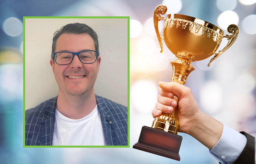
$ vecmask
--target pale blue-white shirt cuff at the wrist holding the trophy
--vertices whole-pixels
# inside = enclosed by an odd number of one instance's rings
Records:
[[[223,132],[210,154],[222,164],[233,164],[244,150],[247,138],[223,124]]]

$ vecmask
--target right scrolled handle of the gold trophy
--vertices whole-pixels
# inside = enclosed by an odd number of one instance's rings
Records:
[[[224,38],[227,38],[229,40],[228,44],[221,50],[219,53],[214,53],[215,56],[210,60],[208,63],[208,67],[210,66],[210,63],[212,63],[215,59],[217,59],[221,54],[223,54],[230,46],[236,41],[238,34],[239,34],[239,28],[235,24],[231,24],[228,27],[228,32],[232,33],[232,35],[226,35]]]

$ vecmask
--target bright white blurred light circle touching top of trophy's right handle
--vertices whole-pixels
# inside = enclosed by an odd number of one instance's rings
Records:
[[[217,23],[218,26],[222,29],[222,30],[227,30],[228,26],[231,24],[238,24],[239,22],[239,16],[235,11],[224,11],[222,12],[218,19],[217,19]]]

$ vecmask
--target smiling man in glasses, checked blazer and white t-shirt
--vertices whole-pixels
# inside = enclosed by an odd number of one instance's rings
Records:
[[[59,86],[25,113],[25,145],[128,145],[128,109],[95,95],[101,57],[96,32],[73,23],[53,37],[50,64]]]

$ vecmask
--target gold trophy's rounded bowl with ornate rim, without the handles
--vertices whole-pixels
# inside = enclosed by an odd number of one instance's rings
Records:
[[[169,14],[165,20],[163,38],[173,54],[189,54],[189,60],[194,62],[212,56],[220,46],[223,33],[219,27],[201,19]]]

